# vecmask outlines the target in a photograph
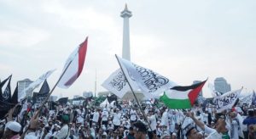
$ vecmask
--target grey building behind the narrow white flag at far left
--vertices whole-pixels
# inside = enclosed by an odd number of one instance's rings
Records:
[[[18,98],[20,98],[21,96],[21,92],[28,87],[33,81],[31,81],[30,79],[24,79],[23,81],[18,81]],[[27,96],[31,96],[33,95],[33,91],[32,89],[29,89],[26,91],[26,95]]]

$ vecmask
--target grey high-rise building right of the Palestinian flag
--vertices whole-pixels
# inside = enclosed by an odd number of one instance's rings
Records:
[[[220,92],[221,94],[231,91],[231,86],[227,83],[224,77],[218,77],[214,80],[214,88],[215,91]]]

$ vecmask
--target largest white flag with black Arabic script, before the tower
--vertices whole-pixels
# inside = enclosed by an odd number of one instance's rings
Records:
[[[151,69],[146,69],[137,64],[133,64],[128,60],[116,57],[119,60],[119,64],[124,70],[124,74],[129,82],[135,81],[137,86],[141,88],[144,96],[152,95],[159,97],[159,95],[166,90],[169,90],[173,86],[177,86],[172,81],[169,81],[166,77],[157,74]]]

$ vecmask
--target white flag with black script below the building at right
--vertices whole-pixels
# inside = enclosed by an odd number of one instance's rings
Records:
[[[225,109],[232,108],[241,93],[241,89],[226,92],[219,97],[215,97],[213,99],[213,104],[216,106],[217,113],[221,113]]]

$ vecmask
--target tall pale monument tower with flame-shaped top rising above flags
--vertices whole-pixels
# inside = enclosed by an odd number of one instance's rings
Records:
[[[124,29],[123,29],[123,53],[122,58],[131,60],[130,54],[130,30],[129,30],[129,18],[131,17],[131,11],[128,10],[127,4],[125,9],[121,12],[121,17],[124,18]]]

